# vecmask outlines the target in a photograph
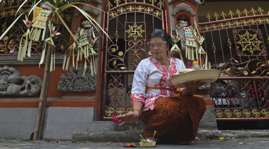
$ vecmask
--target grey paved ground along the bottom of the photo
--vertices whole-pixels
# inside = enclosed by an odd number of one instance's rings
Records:
[[[241,145],[242,143],[243,145]],[[20,141],[0,140],[0,149],[127,149],[123,144],[114,143],[71,143],[71,141]],[[137,144],[137,143],[136,143]],[[155,148],[137,149],[269,149],[269,138],[241,138],[225,140],[193,141],[188,145],[156,145]]]

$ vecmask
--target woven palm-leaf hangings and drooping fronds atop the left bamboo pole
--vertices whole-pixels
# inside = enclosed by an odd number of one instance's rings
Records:
[[[18,10],[27,1],[28,0],[24,0],[24,2],[22,2],[20,7],[18,8]],[[110,40],[111,40],[111,38],[106,33],[106,31],[104,31],[104,29],[98,24],[98,22],[96,20],[94,20],[94,18],[91,17],[90,14],[88,14],[87,12],[85,12],[84,10],[82,10],[81,8],[79,8],[75,5],[75,4],[84,4],[84,5],[89,5],[89,4],[81,3],[81,2],[69,2],[68,0],[67,1],[66,0],[52,0],[51,1],[52,3],[49,3],[48,1],[46,1],[45,3],[40,3],[41,1],[42,0],[35,3],[35,0],[33,0],[34,3],[31,7],[31,10],[29,11],[29,14],[33,13],[33,19],[28,20],[28,17],[25,16],[25,20],[23,20],[23,22],[25,23],[25,25],[28,28],[25,31],[25,34],[23,34],[21,39],[20,39],[17,60],[23,61],[23,58],[25,58],[26,52],[27,52],[27,56],[30,57],[32,42],[44,41],[43,42],[43,49],[42,49],[42,56],[40,59],[39,66],[40,66],[40,64],[43,63],[44,55],[45,55],[46,50],[47,50],[46,47],[48,47],[46,44],[50,44],[50,45],[52,45],[52,47],[54,47],[54,43],[53,43],[52,38],[54,36],[57,36],[60,34],[57,32],[58,27],[52,25],[53,19],[55,17],[57,17],[57,18],[59,18],[59,21],[61,21],[61,24],[66,27],[66,29],[68,30],[68,32],[71,34],[71,36],[74,39],[74,44],[71,46],[74,49],[73,49],[73,52],[70,52],[70,53],[71,54],[73,53],[73,55],[74,55],[74,53],[77,52],[76,53],[77,54],[77,61],[78,60],[82,61],[82,57],[84,56],[84,58],[87,59],[91,64],[94,63],[93,57],[91,57],[90,60],[88,59],[89,56],[94,56],[96,54],[92,48],[93,44],[97,40],[97,38],[94,35],[93,27],[100,28],[104,32],[104,34],[106,36],[108,36],[108,38]],[[37,7],[37,5],[39,3],[40,3],[40,7]],[[92,6],[92,5],[89,5],[89,6]],[[71,32],[71,30],[69,29],[69,27],[67,26],[67,24],[65,23],[65,21],[63,20],[63,18],[61,17],[61,12],[63,12],[65,9],[67,9],[69,7],[74,7],[78,11],[80,11],[85,16],[88,23],[90,22],[92,24],[92,27],[89,29],[86,29],[85,27],[84,27],[84,29],[78,29],[79,31],[77,31],[76,35],[74,35]],[[99,9],[99,8],[97,8],[97,9]],[[101,10],[101,9],[99,9],[99,10]],[[20,14],[15,19],[15,21],[13,23],[11,23],[10,26],[0,35],[0,40],[9,31],[9,29],[11,29],[11,27],[16,23],[16,21],[23,15],[23,13]],[[47,28],[49,28],[49,31],[46,30]],[[99,32],[99,30],[97,30],[97,29],[96,29],[96,31]],[[49,33],[49,35],[46,35],[47,33]],[[22,42],[23,40],[25,40],[25,43]],[[53,66],[53,63],[55,61],[55,54],[54,54],[54,51],[52,51],[51,53],[48,53],[48,54],[51,54],[50,71],[52,71],[52,66]],[[69,58],[66,58],[66,56],[65,56],[63,69],[68,67],[68,65],[67,64],[65,65],[65,63],[69,62],[71,54],[69,54]],[[73,66],[74,66],[74,64],[73,64]],[[95,74],[94,65],[92,65],[92,67],[93,67],[93,68],[91,68],[93,70],[92,75],[94,75]],[[54,67],[54,69],[55,69],[55,67]],[[84,69],[83,75],[85,75],[86,69],[87,69],[87,66],[86,66],[86,60],[85,60],[85,69]]]

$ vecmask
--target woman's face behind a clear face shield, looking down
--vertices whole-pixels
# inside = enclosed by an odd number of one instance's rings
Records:
[[[168,44],[161,37],[151,37],[148,48],[154,58],[162,62],[167,57]]]

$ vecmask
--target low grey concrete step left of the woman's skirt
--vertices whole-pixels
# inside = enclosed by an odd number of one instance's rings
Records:
[[[72,133],[72,143],[76,142],[139,142],[143,132],[76,132]]]

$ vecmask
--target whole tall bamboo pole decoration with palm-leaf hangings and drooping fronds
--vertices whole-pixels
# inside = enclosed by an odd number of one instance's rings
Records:
[[[45,57],[45,53],[46,54],[46,62],[45,62],[45,70],[44,70],[44,78],[43,78],[43,85],[42,85],[42,89],[41,89],[41,93],[40,93],[40,98],[39,98],[39,104],[38,104],[38,113],[37,113],[37,118],[36,118],[36,125],[35,125],[35,129],[34,129],[34,137],[33,140],[37,140],[38,137],[38,133],[39,133],[39,125],[40,125],[40,119],[41,119],[41,114],[42,114],[42,108],[43,108],[43,104],[44,104],[44,94],[45,94],[45,87],[46,87],[46,82],[47,82],[47,76],[48,76],[48,71],[52,71],[53,65],[52,63],[55,61],[52,58],[55,58],[55,55],[53,56],[51,53],[51,47],[54,47],[54,42],[52,40],[52,38],[54,36],[59,35],[60,33],[57,33],[57,29],[55,28],[55,26],[53,26],[52,24],[52,19],[53,16],[58,16],[58,18],[60,19],[60,21],[62,22],[62,24],[66,27],[66,29],[68,30],[68,32],[70,33],[70,35],[73,37],[75,44],[78,45],[78,48],[80,50],[80,55],[84,56],[85,58],[85,68],[87,68],[86,66],[86,60],[89,61],[88,57],[91,55],[89,54],[89,51],[87,51],[87,49],[90,49],[92,55],[95,53],[93,50],[91,50],[91,43],[82,43],[79,42],[77,40],[77,37],[71,32],[71,30],[69,29],[69,27],[66,25],[65,21],[63,20],[63,18],[61,17],[60,13],[62,11],[64,11],[65,9],[69,8],[69,7],[74,7],[76,9],[78,9],[87,19],[87,21],[89,21],[90,23],[92,23],[92,25],[97,28],[97,26],[103,31],[103,33],[105,35],[108,36],[108,34],[103,30],[103,28],[98,24],[98,22],[96,20],[94,20],[87,12],[85,12],[84,10],[80,9],[79,7],[75,6],[75,4],[85,4],[85,3],[81,3],[81,2],[70,2],[70,3],[66,3],[63,5],[63,0],[53,0],[53,4],[46,2],[45,4],[42,3],[42,5],[46,5],[45,7],[37,7],[37,5],[41,2],[42,0],[38,1],[37,3],[33,3],[32,8],[29,12],[29,14],[32,12],[33,13],[33,19],[30,21],[28,20],[27,16],[25,16],[25,20],[23,20],[23,22],[26,24],[26,26],[28,27],[27,31],[25,32],[25,34],[21,37],[25,38],[25,44],[22,45],[20,43],[19,45],[19,50],[18,50],[18,58],[17,60],[23,60],[23,58],[26,55],[26,51],[27,51],[27,56],[30,57],[30,49],[31,49],[31,43],[32,41],[44,41],[48,44],[47,48],[46,46],[44,46],[43,50],[42,50],[42,55],[41,55],[41,59],[40,59],[40,64],[43,63],[44,61],[44,57]],[[22,4],[20,5],[20,7],[22,7],[25,3],[27,2],[27,0],[25,0],[24,2],[22,2]],[[58,5],[62,5],[62,6],[58,6]],[[89,4],[86,4],[89,5]],[[92,5],[89,5],[92,6]],[[18,10],[20,9],[20,7],[18,8]],[[49,8],[49,9],[48,9]],[[97,7],[95,7],[97,8]],[[97,8],[99,9],[99,8]],[[17,10],[17,12],[18,12]],[[101,9],[99,9],[101,10]],[[102,10],[103,11],[103,10]],[[16,12],[16,13],[17,13]],[[10,24],[10,26],[2,33],[2,35],[0,36],[0,40],[4,37],[4,35],[10,30],[10,28],[16,23],[16,21],[23,15],[24,13],[20,14],[15,21]],[[28,15],[29,16],[29,15]],[[51,18],[49,18],[48,16],[52,16]],[[49,37],[45,38],[45,28],[46,26],[49,28]],[[98,31],[98,30],[97,30]],[[41,39],[40,39],[40,35],[42,35]],[[108,36],[108,38],[111,40],[111,38]],[[96,41],[95,39],[90,39],[93,43]],[[111,40],[112,41],[112,40]],[[75,45],[73,44],[73,45]],[[44,44],[46,45],[46,44]],[[85,48],[86,47],[86,48]],[[91,48],[90,48],[91,47]],[[50,65],[49,65],[49,61],[48,59],[51,57],[50,60]],[[70,60],[70,57],[69,57]],[[80,59],[82,60],[82,59]],[[93,61],[93,58],[91,58],[91,60]],[[64,61],[65,62],[65,61]],[[69,61],[67,61],[69,62]],[[93,62],[90,62],[93,63]],[[49,69],[50,67],[50,69]],[[55,67],[54,67],[55,69]],[[63,66],[64,69],[64,66]],[[86,69],[84,69],[84,73],[85,74]]]

